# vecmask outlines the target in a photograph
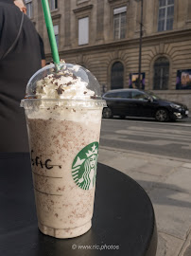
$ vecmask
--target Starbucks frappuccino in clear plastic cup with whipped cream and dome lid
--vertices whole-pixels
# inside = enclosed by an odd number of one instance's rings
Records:
[[[26,110],[39,229],[58,238],[91,228],[102,108],[96,78],[79,65],[44,67],[28,82]]]

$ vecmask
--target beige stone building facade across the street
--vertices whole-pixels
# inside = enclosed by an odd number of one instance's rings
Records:
[[[41,1],[28,4],[49,62]],[[137,85],[141,1],[50,0],[50,8],[61,59],[88,68],[103,91]],[[141,72],[143,88],[191,109],[191,0],[143,0]]]

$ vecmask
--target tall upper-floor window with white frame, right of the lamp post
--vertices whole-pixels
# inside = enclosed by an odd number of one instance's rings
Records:
[[[174,0],[159,0],[158,31],[172,30]]]

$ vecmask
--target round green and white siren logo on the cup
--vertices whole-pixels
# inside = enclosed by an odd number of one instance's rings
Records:
[[[98,142],[84,147],[72,165],[72,176],[82,190],[91,190],[96,184],[96,164],[98,157]]]

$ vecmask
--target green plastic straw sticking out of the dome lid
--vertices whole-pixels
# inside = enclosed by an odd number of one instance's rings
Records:
[[[51,47],[51,51],[52,51],[53,62],[56,65],[57,71],[59,71],[59,69],[60,69],[59,51],[58,51],[57,42],[56,42],[56,38],[55,38],[54,27],[52,24],[52,17],[50,14],[48,0],[42,0],[42,6],[43,6],[45,25],[47,27],[47,33],[48,33],[50,47]]]

